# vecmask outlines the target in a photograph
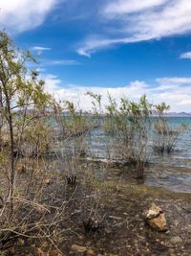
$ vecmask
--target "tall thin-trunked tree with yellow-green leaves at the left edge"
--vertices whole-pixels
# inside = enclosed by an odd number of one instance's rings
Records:
[[[6,200],[14,194],[16,161],[26,128],[43,113],[51,97],[44,93],[44,81],[37,80],[37,73],[28,73],[27,61],[33,61],[29,52],[16,51],[11,39],[0,33],[0,94],[1,94],[1,135],[9,134],[11,167],[8,172],[9,193]],[[34,113],[29,114],[32,108]],[[32,124],[33,125],[33,124]],[[1,138],[3,140],[3,136]],[[16,141],[17,140],[17,141]],[[2,151],[2,156],[4,152]],[[11,205],[11,208],[13,205]],[[11,209],[11,215],[12,215]]]

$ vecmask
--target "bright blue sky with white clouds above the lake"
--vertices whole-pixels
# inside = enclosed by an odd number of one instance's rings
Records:
[[[46,90],[91,108],[88,90],[191,112],[190,0],[0,0],[0,29],[38,58]]]

